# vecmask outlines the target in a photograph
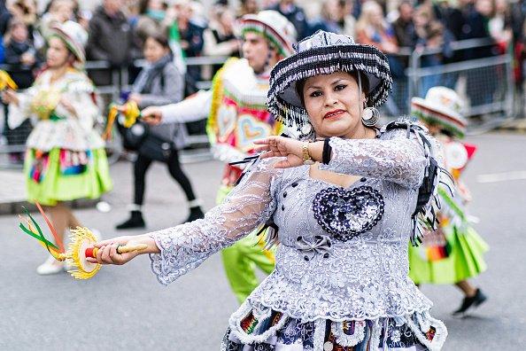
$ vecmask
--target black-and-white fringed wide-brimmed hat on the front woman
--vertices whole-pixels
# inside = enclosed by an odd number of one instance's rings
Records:
[[[351,36],[317,31],[295,47],[296,53],[272,69],[267,108],[277,121],[300,133],[309,117],[296,83],[319,74],[359,71],[367,76],[366,104],[382,105],[391,91],[392,79],[385,54],[374,46],[354,43]]]

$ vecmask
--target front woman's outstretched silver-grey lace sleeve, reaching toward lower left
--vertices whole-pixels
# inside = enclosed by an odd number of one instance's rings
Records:
[[[275,192],[282,171],[275,160],[251,167],[227,199],[204,219],[150,233],[160,253],[151,254],[151,270],[163,285],[195,269],[205,259],[267,222],[275,211]]]

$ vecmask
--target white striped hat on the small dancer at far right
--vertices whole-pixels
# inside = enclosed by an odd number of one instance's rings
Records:
[[[436,124],[453,136],[464,137],[468,121],[464,118],[466,105],[455,90],[433,87],[426,98],[411,99],[411,114],[420,120]]]

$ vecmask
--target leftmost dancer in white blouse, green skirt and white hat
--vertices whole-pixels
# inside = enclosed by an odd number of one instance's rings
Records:
[[[64,201],[97,199],[112,188],[104,141],[93,129],[100,113],[95,89],[82,71],[83,43],[88,34],[73,21],[53,27],[48,38],[46,67],[23,93],[4,91],[9,126],[31,117],[35,128],[27,138],[24,174],[27,200],[39,202],[64,237],[81,226]],[[63,270],[51,256],[37,268],[42,275]]]

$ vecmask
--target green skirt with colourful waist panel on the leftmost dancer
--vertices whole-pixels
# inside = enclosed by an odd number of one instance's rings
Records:
[[[27,200],[54,206],[58,201],[97,199],[112,190],[110,168],[104,149],[50,152],[28,149],[24,164]]]

